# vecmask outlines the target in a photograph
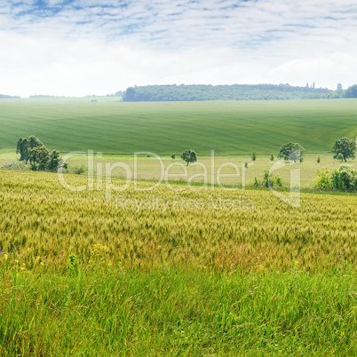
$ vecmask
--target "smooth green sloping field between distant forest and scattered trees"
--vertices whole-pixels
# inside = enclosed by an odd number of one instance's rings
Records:
[[[36,135],[61,152],[106,154],[151,151],[198,155],[274,153],[299,142],[310,153],[329,151],[335,139],[357,135],[357,100],[68,103],[0,101],[0,150]]]

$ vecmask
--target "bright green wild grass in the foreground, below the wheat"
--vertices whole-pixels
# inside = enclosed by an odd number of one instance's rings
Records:
[[[3,274],[0,290],[0,350],[3,356],[352,356],[355,282],[355,273],[338,271],[13,272]]]

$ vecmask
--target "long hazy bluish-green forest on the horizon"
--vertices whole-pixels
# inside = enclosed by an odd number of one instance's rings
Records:
[[[344,91],[290,84],[147,85],[129,87],[123,101],[280,100],[342,98]]]

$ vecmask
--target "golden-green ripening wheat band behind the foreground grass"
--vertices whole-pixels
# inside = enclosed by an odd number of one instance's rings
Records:
[[[67,180],[80,186],[86,178]],[[58,269],[73,253],[81,266],[103,259],[124,268],[180,265],[223,272],[355,268],[353,195],[302,194],[298,209],[261,190],[186,189],[178,198],[164,185],[148,192],[131,186],[120,196],[126,206],[106,202],[103,191],[69,192],[55,174],[0,171],[0,264],[22,272]],[[209,197],[236,200],[242,208],[205,207]],[[138,210],[129,204],[134,200],[168,207]],[[202,205],[194,208],[193,202]]]

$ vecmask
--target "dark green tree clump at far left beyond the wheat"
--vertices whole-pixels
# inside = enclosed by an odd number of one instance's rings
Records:
[[[55,172],[63,163],[57,150],[50,150],[44,146],[35,136],[20,138],[17,143],[16,153],[20,154],[20,161],[29,162],[32,171],[52,171]]]

